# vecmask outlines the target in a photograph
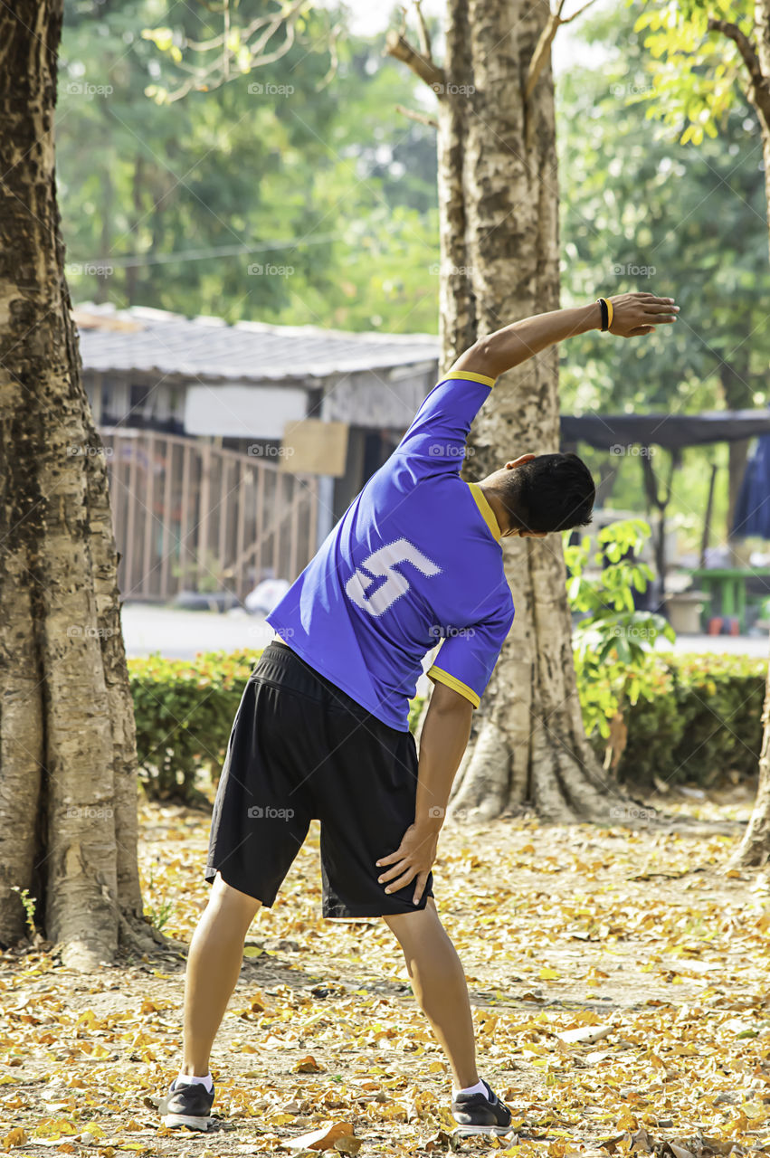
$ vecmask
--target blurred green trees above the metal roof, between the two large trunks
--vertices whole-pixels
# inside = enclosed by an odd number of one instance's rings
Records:
[[[435,132],[396,112],[418,85],[379,44],[338,37],[330,73],[338,15],[309,10],[280,59],[159,105],[145,91],[186,64],[169,46],[221,14],[76,0],[57,109],[75,301],[435,332]]]

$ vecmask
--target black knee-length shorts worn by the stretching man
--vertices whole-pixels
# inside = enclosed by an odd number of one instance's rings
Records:
[[[289,647],[271,643],[235,716],[219,782],[206,880],[276,900],[310,820],[321,821],[324,917],[379,917],[424,909],[416,879],[387,895],[380,857],[395,852],[415,820],[417,749],[318,675]]]

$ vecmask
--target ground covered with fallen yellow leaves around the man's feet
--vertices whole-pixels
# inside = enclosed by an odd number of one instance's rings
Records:
[[[668,811],[745,819],[750,790]],[[146,909],[189,941],[205,907],[208,816],[141,809]],[[465,1153],[660,1158],[770,1153],[770,888],[726,873],[735,836],[448,824],[439,911],[468,975],[479,1071],[514,1133]],[[258,914],[214,1047],[214,1128],[159,1128],[177,1072],[184,953],[96,975],[56,953],[0,954],[0,1146],[14,1155],[174,1158],[455,1149],[450,1080],[379,921],[320,916],[311,831]]]

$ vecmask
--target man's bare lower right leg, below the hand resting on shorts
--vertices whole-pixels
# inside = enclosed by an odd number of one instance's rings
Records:
[[[476,1085],[476,1041],[465,974],[428,896],[424,909],[383,917],[404,952],[415,997],[452,1068],[456,1090]]]

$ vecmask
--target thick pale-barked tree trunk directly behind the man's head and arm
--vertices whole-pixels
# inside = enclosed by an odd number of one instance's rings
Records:
[[[477,337],[558,308],[548,60],[531,97],[522,96],[548,17],[547,2],[448,0],[439,116],[442,259],[456,264],[454,255],[462,255],[469,285],[442,278],[445,367]],[[527,450],[558,447],[558,352],[551,349],[496,384],[493,403],[471,431],[470,476],[482,478]],[[607,820],[613,808],[619,814],[622,797],[603,777],[582,727],[559,536],[512,540],[505,566],[516,618],[475,713],[452,809],[484,819],[529,802],[550,820]]]

